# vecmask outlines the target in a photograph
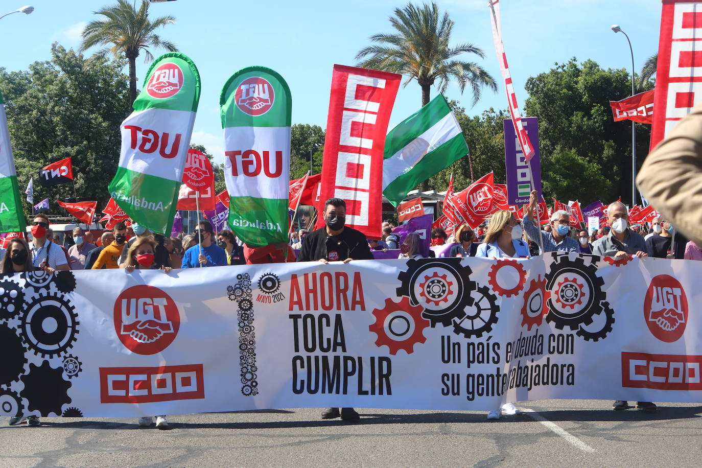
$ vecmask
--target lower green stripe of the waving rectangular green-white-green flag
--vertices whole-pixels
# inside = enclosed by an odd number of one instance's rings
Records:
[[[411,171],[390,182],[388,187],[383,190],[383,195],[392,203],[392,206],[397,206],[409,191],[420,182],[451,166],[456,159],[467,153],[468,147],[465,145],[465,138],[463,138],[463,133],[459,133],[424,156]]]

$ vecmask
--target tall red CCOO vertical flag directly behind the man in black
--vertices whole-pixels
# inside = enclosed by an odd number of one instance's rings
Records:
[[[377,237],[383,203],[383,149],[402,75],[334,65],[326,120],[320,203],[346,202],[346,225]],[[324,206],[319,205],[323,212]],[[317,227],[324,226],[319,215]]]

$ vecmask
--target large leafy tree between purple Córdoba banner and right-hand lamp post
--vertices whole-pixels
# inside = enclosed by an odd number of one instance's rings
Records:
[[[589,201],[602,199],[607,203],[620,195],[625,199],[631,187],[630,123],[614,121],[609,101],[630,94],[627,70],[605,70],[592,60],[578,64],[572,58],[529,78],[526,88],[529,98],[525,114],[539,119],[542,166],[549,167],[558,154],[569,152],[582,161],[597,164],[610,182],[599,194],[592,193],[585,180],[578,189],[569,184],[566,192],[561,192],[562,198],[575,200],[580,196],[584,202],[582,194],[589,192],[595,196]],[[642,156],[648,152],[651,128],[639,123],[636,130],[640,166]]]

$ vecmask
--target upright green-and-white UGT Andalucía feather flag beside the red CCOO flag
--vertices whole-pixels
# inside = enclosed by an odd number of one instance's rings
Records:
[[[229,225],[249,247],[288,240],[291,105],[270,68],[240,69],[222,89]]]

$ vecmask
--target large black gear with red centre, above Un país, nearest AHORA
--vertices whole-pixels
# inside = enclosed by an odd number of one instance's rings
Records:
[[[446,297],[446,303],[437,305],[441,309],[428,309],[424,300],[415,292],[415,285],[424,281],[424,272],[428,269],[441,269],[442,275],[448,277],[448,281],[453,283],[452,288],[455,288],[456,295],[452,300]],[[452,319],[461,319],[465,316],[463,309],[472,305],[473,298],[470,293],[475,290],[475,281],[470,281],[472,269],[468,265],[461,265],[460,258],[442,258],[439,259],[411,259],[407,261],[407,269],[397,275],[397,279],[402,281],[402,286],[397,288],[398,296],[407,296],[410,299],[411,305],[421,305],[424,308],[422,316],[430,321],[431,326],[435,327],[437,323],[443,326],[451,325]],[[435,304],[437,301],[434,301]]]

